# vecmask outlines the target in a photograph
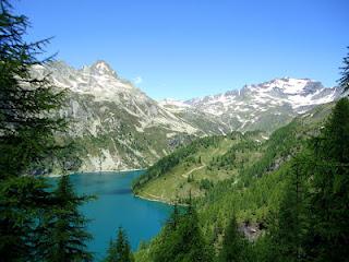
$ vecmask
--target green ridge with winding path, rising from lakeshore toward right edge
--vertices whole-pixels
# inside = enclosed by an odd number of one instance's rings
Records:
[[[203,196],[224,180],[243,183],[277,170],[310,135],[316,134],[332,107],[333,104],[321,105],[276,130],[270,138],[261,131],[236,131],[197,139],[149,167],[134,181],[133,191],[157,201],[185,202],[190,194]]]

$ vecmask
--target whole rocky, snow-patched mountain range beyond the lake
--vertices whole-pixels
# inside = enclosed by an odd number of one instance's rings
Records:
[[[239,91],[156,102],[122,80],[105,61],[74,69],[64,62],[35,67],[55,86],[69,90],[63,114],[69,135],[82,147],[82,170],[144,168],[197,136],[234,130],[267,133],[341,91],[308,79],[275,79]]]

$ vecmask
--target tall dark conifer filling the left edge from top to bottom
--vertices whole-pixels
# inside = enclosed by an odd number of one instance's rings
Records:
[[[1,261],[37,261],[43,215],[51,209],[44,179],[21,177],[38,167],[61,147],[55,133],[65,128],[57,110],[64,91],[56,91],[46,76],[35,78],[33,67],[48,39],[23,39],[28,20],[13,14],[0,0],[0,258]]]

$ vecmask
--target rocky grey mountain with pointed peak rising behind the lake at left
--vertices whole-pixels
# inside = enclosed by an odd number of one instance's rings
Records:
[[[144,168],[185,141],[216,132],[215,123],[202,129],[165,109],[105,61],[82,69],[58,61],[35,67],[34,74],[68,90],[62,114],[72,119],[69,136],[81,147],[84,171]]]

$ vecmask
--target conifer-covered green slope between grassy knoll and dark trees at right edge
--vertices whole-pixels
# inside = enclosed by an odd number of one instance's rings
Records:
[[[258,153],[256,159],[239,166],[234,170],[238,175],[217,182],[204,198],[196,199],[200,224],[209,243],[219,247],[224,228],[232,215],[240,225],[252,225],[257,229],[266,226],[270,211],[277,210],[282,199],[292,156],[301,151],[310,136],[317,134],[333,105],[316,107],[275,131],[258,150],[253,150]],[[161,241],[161,234],[136,252],[136,261],[152,261],[149,254],[158,241]]]

